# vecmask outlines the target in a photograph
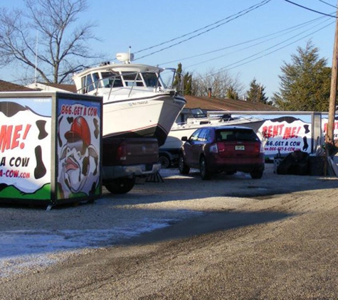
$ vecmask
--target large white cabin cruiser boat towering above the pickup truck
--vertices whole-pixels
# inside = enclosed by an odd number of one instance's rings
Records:
[[[186,100],[172,87],[174,68],[134,64],[132,58],[132,53],[117,53],[121,63],[88,68],[73,81],[78,93],[102,96],[103,137],[156,137],[161,146]],[[167,71],[171,75],[164,78]]]

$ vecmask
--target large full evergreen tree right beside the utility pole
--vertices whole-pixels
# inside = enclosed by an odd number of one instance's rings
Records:
[[[327,60],[319,58],[311,41],[305,48],[298,47],[291,59],[281,67],[280,91],[272,97],[275,105],[290,111],[328,111],[331,69]]]

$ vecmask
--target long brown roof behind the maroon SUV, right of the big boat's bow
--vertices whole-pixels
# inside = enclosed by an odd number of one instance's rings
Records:
[[[263,103],[253,103],[243,100],[233,99],[216,99],[213,97],[195,97],[185,95],[186,108],[199,107],[204,110],[228,110],[228,111],[245,111],[245,112],[269,112],[278,111],[277,107],[271,105],[265,105]]]

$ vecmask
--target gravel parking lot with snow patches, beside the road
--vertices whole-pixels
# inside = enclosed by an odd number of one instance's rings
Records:
[[[184,222],[208,218],[211,213],[221,213],[224,220],[223,214],[231,212],[227,222],[233,226],[238,222],[233,219],[236,212],[268,210],[277,205],[274,198],[278,195],[290,198],[290,193],[337,186],[336,177],[278,175],[273,172],[273,164],[266,164],[261,179],[237,173],[202,181],[199,171],[182,176],[175,168],[163,169],[161,176],[163,182],[137,184],[124,195],[104,190],[102,198],[92,204],[57,206],[49,211],[1,205],[0,279],[36,272],[70,256],[118,245],[173,225],[180,230]],[[245,213],[245,222],[263,217],[280,215]]]

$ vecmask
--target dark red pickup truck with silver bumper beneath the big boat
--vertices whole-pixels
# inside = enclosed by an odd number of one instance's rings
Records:
[[[102,184],[110,193],[128,193],[136,178],[146,178],[161,168],[157,163],[157,139],[105,137],[102,140]]]

